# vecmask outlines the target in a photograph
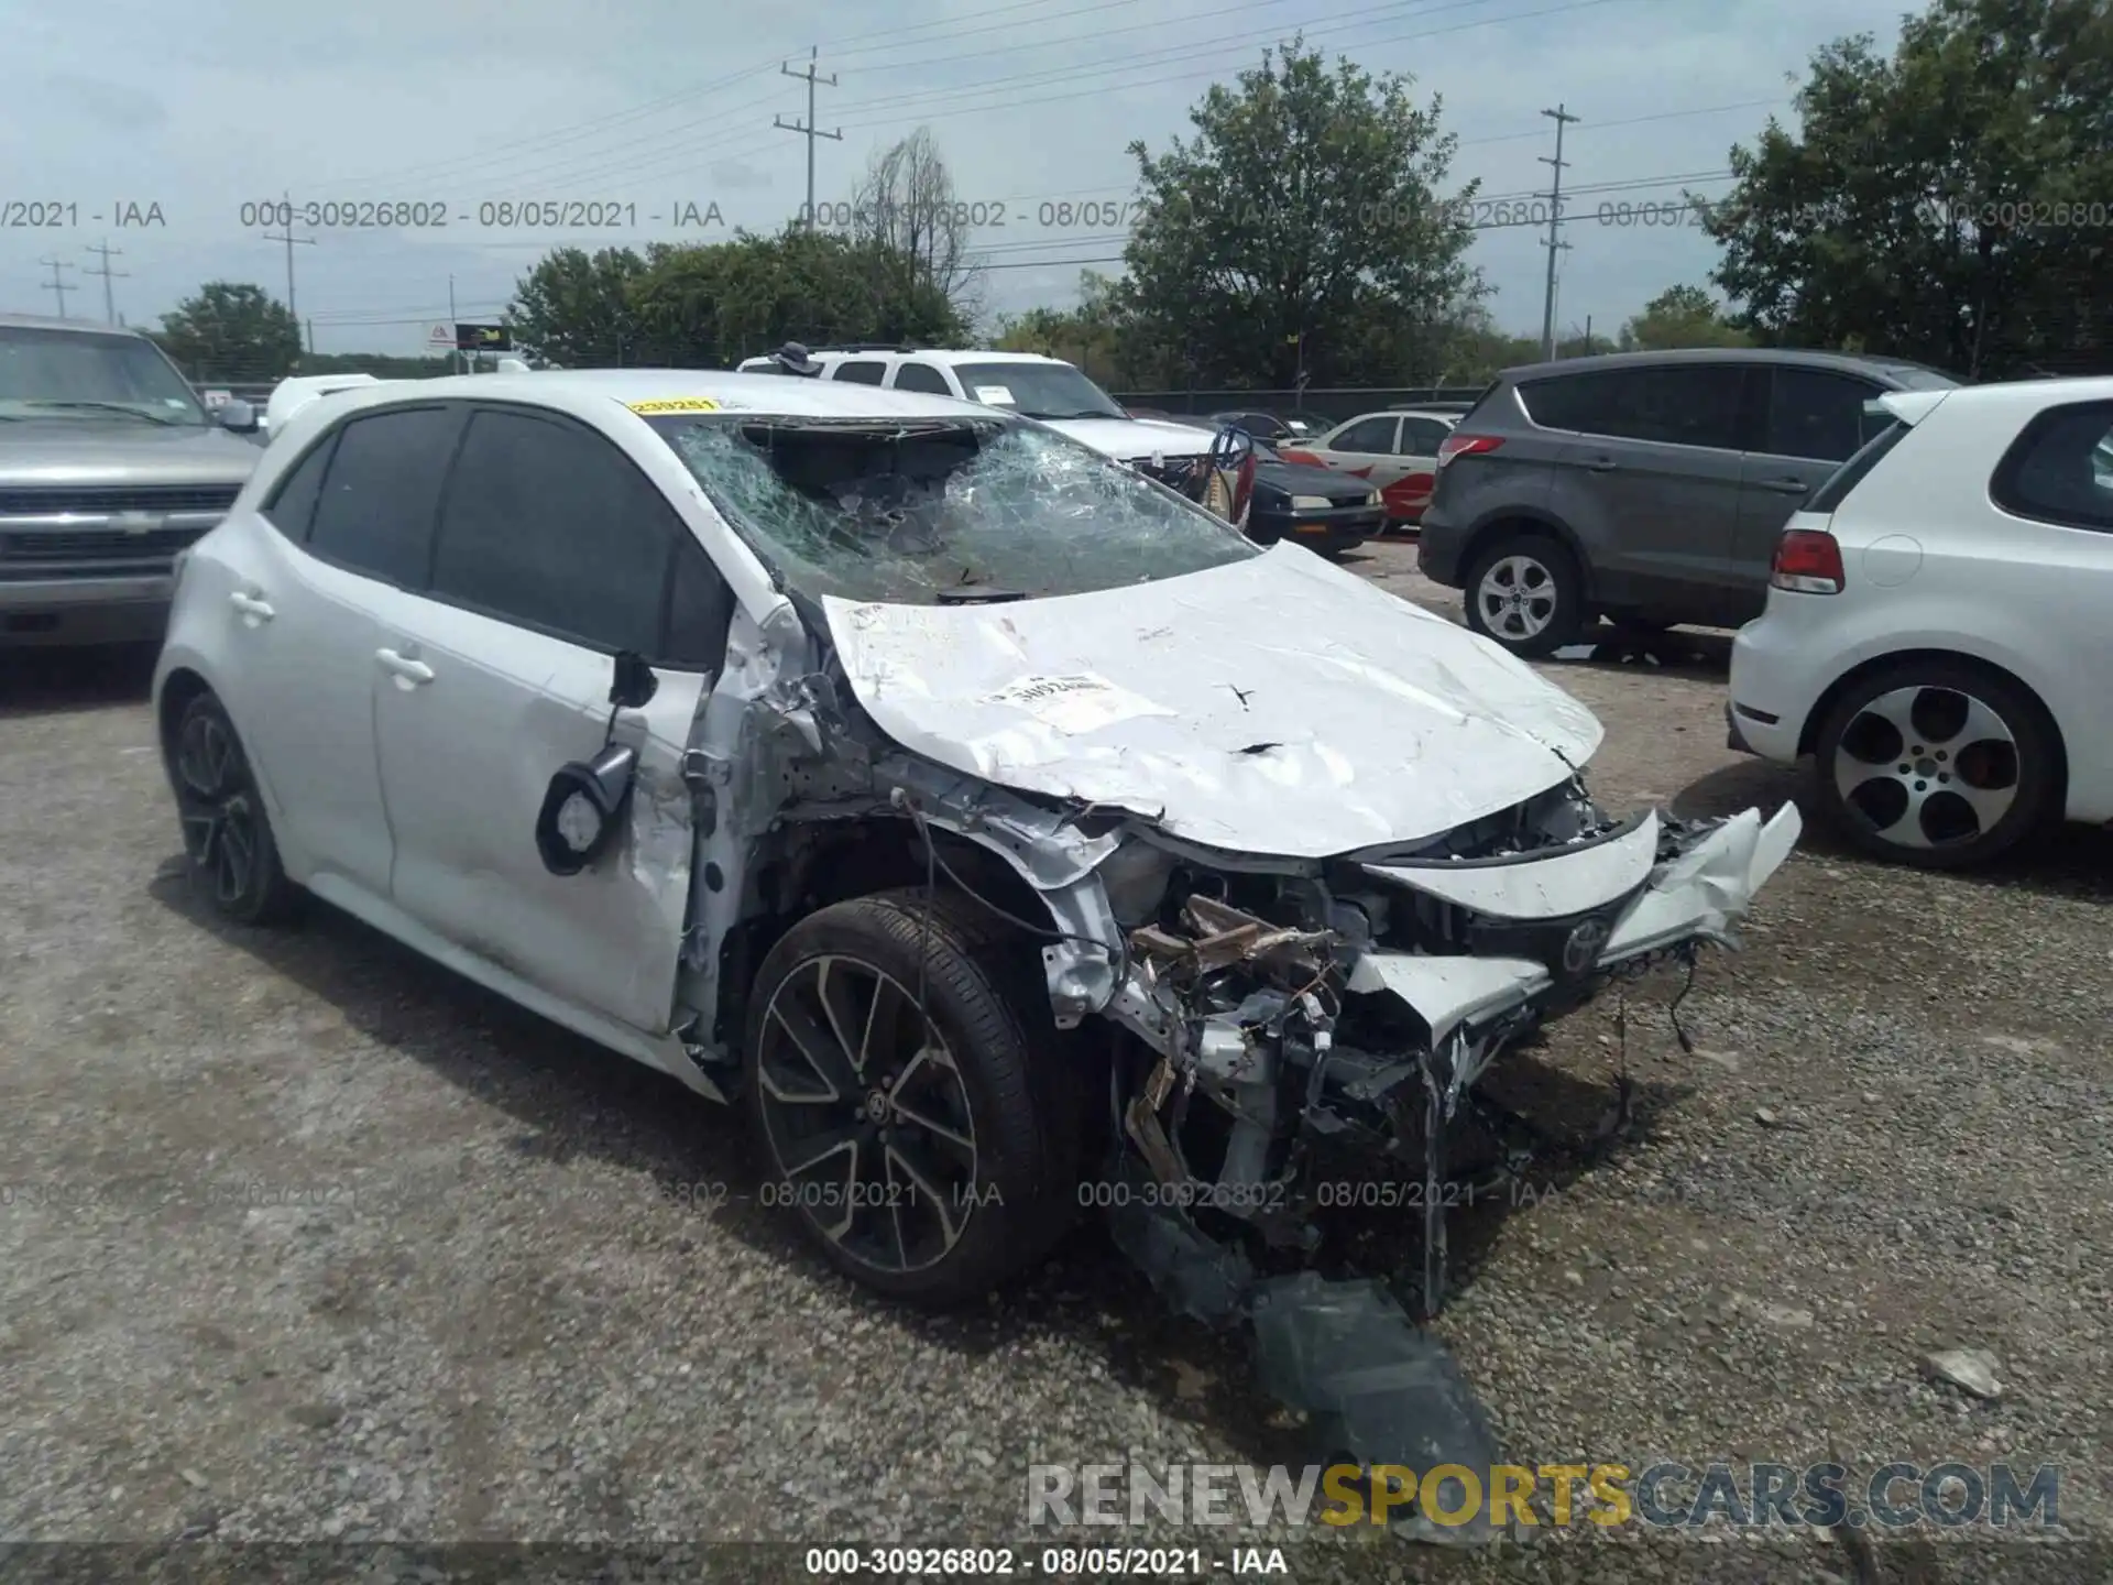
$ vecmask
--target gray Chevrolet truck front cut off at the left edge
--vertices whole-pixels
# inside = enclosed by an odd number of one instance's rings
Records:
[[[161,638],[175,554],[235,503],[254,429],[137,330],[0,315],[0,645]]]

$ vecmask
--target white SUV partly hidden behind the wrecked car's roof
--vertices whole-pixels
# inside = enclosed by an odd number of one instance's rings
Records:
[[[1118,463],[1160,473],[1185,471],[1211,450],[1211,429],[1133,418],[1099,385],[1061,357],[1040,353],[942,351],[936,347],[818,347],[824,380],[923,391],[1040,418]],[[771,374],[773,357],[750,357],[742,374]]]

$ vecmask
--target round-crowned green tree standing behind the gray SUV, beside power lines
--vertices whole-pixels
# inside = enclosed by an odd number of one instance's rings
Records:
[[[1464,209],[1439,199],[1456,139],[1409,87],[1348,59],[1329,72],[1295,38],[1215,85],[1194,139],[1130,144],[1126,334],[1196,385],[1388,383],[1435,357],[1485,287]]]

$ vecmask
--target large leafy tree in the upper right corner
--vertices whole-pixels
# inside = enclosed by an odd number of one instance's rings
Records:
[[[1733,148],[1697,201],[1714,281],[1764,342],[1967,378],[2113,357],[2113,8],[1936,0],[1891,57],[1813,55],[1800,127]]]

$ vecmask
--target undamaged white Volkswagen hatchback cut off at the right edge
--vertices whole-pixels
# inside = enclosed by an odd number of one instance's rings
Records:
[[[1982,864],[2113,820],[2113,380],[1876,399],[1731,651],[1731,746],[1817,763],[1878,858]]]

